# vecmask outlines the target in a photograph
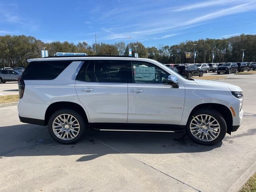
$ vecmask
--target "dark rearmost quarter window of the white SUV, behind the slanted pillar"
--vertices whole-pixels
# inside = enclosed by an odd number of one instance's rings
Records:
[[[39,61],[31,62],[22,74],[23,80],[53,80],[72,61]]]

